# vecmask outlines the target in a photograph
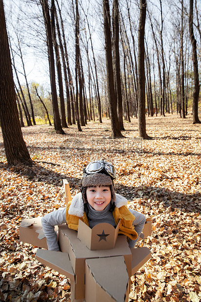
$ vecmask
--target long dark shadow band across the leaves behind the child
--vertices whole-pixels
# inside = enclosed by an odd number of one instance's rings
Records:
[[[68,174],[57,173],[54,170],[44,168],[38,164],[28,167],[18,165],[9,168],[6,164],[0,163],[0,169],[8,170],[18,174],[19,177],[26,177],[31,182],[44,182],[54,186],[63,186],[62,179],[67,179],[70,188],[81,189],[82,179],[69,177]],[[171,207],[184,209],[187,212],[201,213],[201,192],[183,193],[179,191],[171,191],[163,187],[138,186],[128,187],[116,184],[116,192],[128,200],[138,200],[148,208],[159,207],[161,212]]]

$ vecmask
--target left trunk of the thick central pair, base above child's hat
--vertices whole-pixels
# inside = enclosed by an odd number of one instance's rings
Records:
[[[106,69],[107,82],[110,102],[110,118],[111,118],[111,137],[123,137],[116,106],[116,95],[114,90],[114,75],[112,67],[112,49],[111,49],[111,22],[110,22],[110,6],[109,0],[103,0],[103,17],[104,17],[104,34],[105,34],[105,50],[106,50]]]

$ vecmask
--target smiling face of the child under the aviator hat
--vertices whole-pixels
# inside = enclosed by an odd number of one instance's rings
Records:
[[[102,211],[110,204],[111,191],[108,186],[90,186],[86,193],[88,203],[96,211]]]

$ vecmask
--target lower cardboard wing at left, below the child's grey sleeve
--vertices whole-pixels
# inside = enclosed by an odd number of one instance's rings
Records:
[[[45,264],[60,274],[74,280],[74,272],[69,259],[69,254],[45,249],[37,249],[37,261]]]

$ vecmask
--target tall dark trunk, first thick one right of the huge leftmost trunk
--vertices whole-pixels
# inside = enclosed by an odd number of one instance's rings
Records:
[[[42,6],[43,18],[45,23],[46,35],[47,35],[50,82],[51,82],[52,103],[53,103],[53,113],[54,113],[54,126],[55,126],[56,133],[65,134],[65,132],[61,127],[61,119],[59,115],[58,101],[56,95],[55,59],[54,59],[54,52],[53,52],[53,40],[52,40],[51,20],[50,20],[48,1],[40,0],[40,3]]]

